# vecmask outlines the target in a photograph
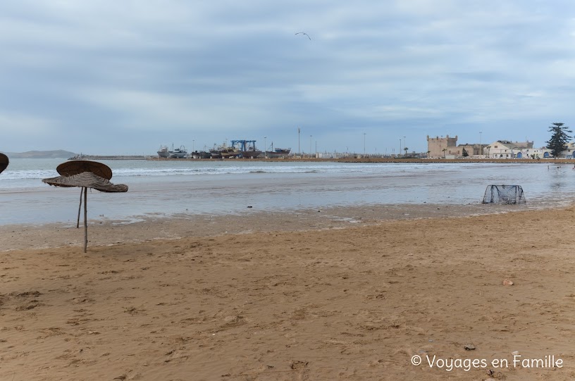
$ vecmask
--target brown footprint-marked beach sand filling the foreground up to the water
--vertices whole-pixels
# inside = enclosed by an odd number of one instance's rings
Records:
[[[432,210],[4,227],[0,380],[574,379],[575,208]]]

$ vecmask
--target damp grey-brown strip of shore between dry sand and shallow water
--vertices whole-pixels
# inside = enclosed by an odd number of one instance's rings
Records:
[[[306,232],[371,226],[394,220],[465,218],[537,211],[567,206],[530,204],[378,204],[307,208],[291,211],[249,210],[245,214],[179,214],[130,220],[88,220],[88,246],[149,242],[185,237],[242,235],[255,232]],[[0,253],[83,245],[83,225],[76,222],[0,225]]]

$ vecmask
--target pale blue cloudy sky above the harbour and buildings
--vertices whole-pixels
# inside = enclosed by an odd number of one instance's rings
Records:
[[[0,151],[394,154],[575,127],[571,0],[4,0],[0,52]]]

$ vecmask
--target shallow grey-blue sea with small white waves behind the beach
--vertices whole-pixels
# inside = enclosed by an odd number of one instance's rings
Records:
[[[80,188],[51,187],[64,159],[19,159],[0,173],[0,225],[75,221]],[[89,220],[290,212],[401,204],[479,204],[488,185],[521,185],[530,208],[575,200],[575,165],[544,163],[335,163],[101,161],[126,193],[88,193]]]

